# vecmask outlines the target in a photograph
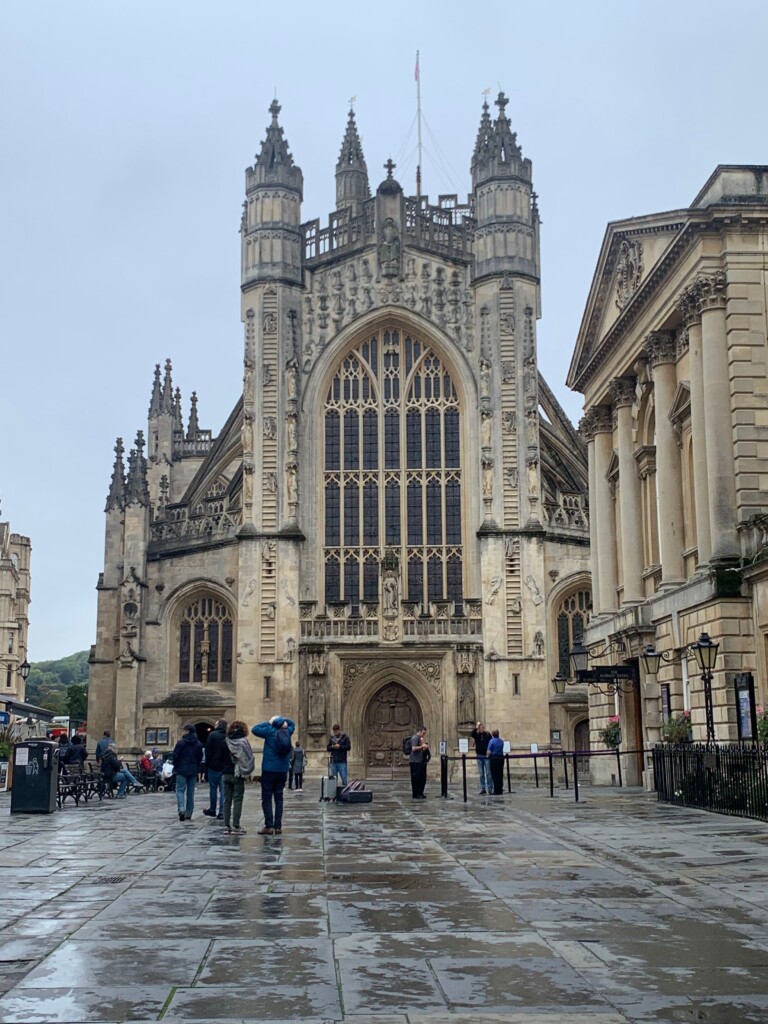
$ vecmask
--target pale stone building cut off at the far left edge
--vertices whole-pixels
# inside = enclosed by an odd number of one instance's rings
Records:
[[[26,680],[19,668],[27,660],[30,628],[29,537],[12,534],[0,522],[0,693],[2,699],[24,702]]]

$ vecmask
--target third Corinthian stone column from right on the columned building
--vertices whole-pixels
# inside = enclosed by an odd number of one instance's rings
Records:
[[[685,530],[680,449],[669,415],[677,388],[675,336],[671,331],[657,331],[648,335],[645,353],[648,356],[653,375],[658,553],[662,560],[662,587],[668,587],[682,583],[685,578],[683,566]]]

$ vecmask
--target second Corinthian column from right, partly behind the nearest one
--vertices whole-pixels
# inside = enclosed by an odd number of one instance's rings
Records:
[[[701,366],[701,308],[695,285],[680,296],[678,308],[688,328],[688,373],[690,377],[690,429],[693,451],[693,499],[696,511],[696,562],[706,565],[712,554],[710,500],[707,483],[707,436],[705,432],[703,372]]]

